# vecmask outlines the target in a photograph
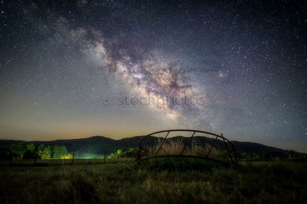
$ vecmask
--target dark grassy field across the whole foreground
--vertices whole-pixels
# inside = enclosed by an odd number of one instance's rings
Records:
[[[11,163],[10,163],[11,162]],[[307,164],[191,159],[0,161],[1,203],[306,203]]]

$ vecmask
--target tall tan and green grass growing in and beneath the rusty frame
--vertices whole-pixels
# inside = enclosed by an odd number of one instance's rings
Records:
[[[163,156],[163,155],[179,155],[184,149],[185,143],[182,138],[168,139],[163,142],[163,139],[158,139],[157,143],[149,149],[148,152],[144,152],[142,158]],[[209,152],[210,151],[210,152]],[[209,152],[209,154],[208,154]],[[157,153],[157,154],[156,154]],[[226,161],[227,155],[225,151],[206,144],[204,147],[197,144],[196,140],[193,139],[191,143],[185,148],[183,155],[190,156],[201,156],[217,159],[220,161]],[[214,168],[226,167],[225,164],[221,164],[215,161],[208,161],[197,158],[181,158],[181,157],[165,157],[165,158],[152,158],[149,160],[142,161],[141,166],[144,169],[164,169],[166,171],[178,171],[184,172],[186,170],[197,170],[197,171],[208,171],[212,172]],[[228,167],[228,166],[227,166]]]

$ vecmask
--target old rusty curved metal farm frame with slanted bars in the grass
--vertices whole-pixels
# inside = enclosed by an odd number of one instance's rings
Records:
[[[192,135],[189,137],[188,142],[186,142],[183,146],[183,149],[181,150],[180,154],[166,154],[164,152],[160,152],[162,145],[165,143],[165,140],[167,138],[167,136],[169,135],[170,132],[191,132]],[[152,136],[158,133],[163,133],[163,132],[167,132],[166,136],[163,138],[162,142],[160,144],[158,144],[157,148],[154,149],[153,152],[151,152],[149,154],[149,141],[150,138],[153,138]],[[212,141],[212,144],[208,144],[208,152],[204,155],[189,155],[189,154],[184,154],[185,149],[188,147],[189,143],[192,142],[192,138],[193,136],[195,137],[195,134],[197,135],[197,133],[204,133],[204,134],[208,134],[208,135],[212,135],[215,138],[212,138],[209,141]],[[144,140],[144,139],[147,139]],[[144,140],[144,141],[143,141]],[[220,140],[220,141],[218,141]],[[143,141],[143,143],[142,143]],[[146,143],[145,143],[146,141]],[[212,151],[212,148],[214,147],[214,145],[216,145],[217,143],[219,143],[220,145],[223,144],[223,148],[224,150],[222,151],[223,154],[225,154],[223,156],[223,160],[219,159],[219,158],[212,158],[210,156],[210,152]],[[144,146],[145,144],[145,146]],[[165,157],[181,157],[181,158],[197,158],[197,159],[205,159],[205,160],[209,160],[209,161],[216,161],[222,164],[225,164],[227,166],[237,166],[238,164],[238,160],[237,160],[237,155],[235,152],[235,146],[231,143],[231,141],[229,141],[228,139],[224,138],[223,134],[221,135],[216,135],[214,133],[211,132],[204,132],[204,131],[198,131],[198,130],[184,130],[184,129],[178,129],[178,130],[164,130],[164,131],[159,131],[159,132],[153,132],[150,133],[144,137],[142,137],[142,139],[140,139],[139,141],[139,149],[138,149],[138,157],[137,157],[137,163],[144,161],[144,160],[148,160],[148,159],[153,159],[153,158],[165,158]]]

